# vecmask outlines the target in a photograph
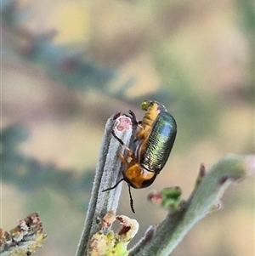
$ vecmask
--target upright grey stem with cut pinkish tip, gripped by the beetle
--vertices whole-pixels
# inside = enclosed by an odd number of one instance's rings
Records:
[[[88,214],[85,220],[84,229],[77,249],[77,256],[87,255],[88,241],[98,232],[101,227],[99,223],[102,221],[106,213],[112,210],[116,213],[122,183],[111,191],[103,190],[110,188],[122,179],[122,162],[116,152],[122,152],[122,145],[111,134],[112,130],[122,141],[128,145],[133,135],[132,121],[129,117],[116,114],[109,118],[105,125],[104,139],[99,152],[99,163],[96,168],[92,196],[88,205]],[[105,229],[105,233],[109,231],[111,226]]]

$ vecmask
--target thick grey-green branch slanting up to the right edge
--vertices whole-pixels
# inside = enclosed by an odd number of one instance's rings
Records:
[[[201,166],[195,190],[176,211],[169,210],[166,219],[156,226],[150,242],[133,247],[129,256],[166,256],[197,221],[219,208],[219,199],[232,181],[254,174],[254,156],[229,155],[221,158],[206,174]],[[146,235],[145,235],[146,236]]]

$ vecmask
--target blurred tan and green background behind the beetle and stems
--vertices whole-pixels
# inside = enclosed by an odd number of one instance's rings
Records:
[[[166,211],[151,190],[190,195],[201,162],[254,152],[254,6],[251,0],[2,0],[1,226],[39,212],[38,256],[75,255],[105,122],[143,100],[178,123],[153,185],[123,185],[118,214],[144,235]],[[171,255],[254,255],[254,181],[231,185],[224,208]],[[132,242],[132,244],[133,244]],[[132,244],[130,246],[132,246]]]

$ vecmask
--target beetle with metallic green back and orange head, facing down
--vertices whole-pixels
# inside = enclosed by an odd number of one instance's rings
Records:
[[[132,210],[133,199],[130,186],[135,189],[142,189],[154,182],[167,162],[177,134],[175,119],[164,105],[156,101],[144,101],[142,109],[146,112],[140,122],[136,120],[133,111],[129,111],[134,125],[137,125],[138,128],[130,149],[112,131],[112,135],[127,150],[127,157],[119,153],[119,157],[126,164],[126,168],[122,171],[123,178],[116,185],[105,190],[110,191],[116,188],[122,180],[125,180],[128,185]],[[127,160],[128,157],[131,159],[130,161]]]

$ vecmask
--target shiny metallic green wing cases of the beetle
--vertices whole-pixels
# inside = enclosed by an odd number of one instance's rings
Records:
[[[161,111],[150,135],[142,141],[144,150],[140,151],[139,163],[148,171],[159,174],[172,151],[176,134],[177,124],[173,116]]]

